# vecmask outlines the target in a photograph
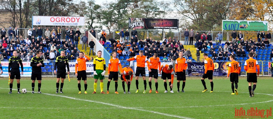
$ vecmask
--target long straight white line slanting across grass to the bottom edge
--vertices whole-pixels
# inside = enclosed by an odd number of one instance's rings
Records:
[[[9,89],[9,88],[1,88],[1,89]],[[16,89],[12,89],[12,90],[16,90]],[[17,91],[17,90],[16,90],[16,91]],[[28,91],[28,92],[29,92],[29,91]],[[78,98],[73,98],[73,97],[68,97],[68,96],[62,96],[62,95],[53,95],[53,94],[48,94],[48,93],[42,93],[42,94],[51,95],[51,96],[59,96],[59,97],[63,97],[63,98],[73,99],[73,100],[94,102],[94,103],[99,103],[99,104],[114,106],[114,107],[117,107],[117,108],[124,108],[124,109],[132,109],[132,110],[138,110],[138,111],[145,111],[145,112],[150,112],[150,113],[155,113],[155,114],[161,114],[161,115],[165,115],[165,116],[169,116],[169,117],[177,117],[177,118],[183,118],[183,119],[191,119],[191,118],[189,118],[189,117],[182,117],[182,116],[177,116],[177,115],[172,115],[172,114],[165,114],[165,113],[160,113],[160,112],[156,112],[156,111],[143,110],[143,109],[139,109],[139,108],[123,107],[123,106],[113,105],[113,104],[110,104],[110,103],[104,103],[104,102],[99,102],[99,101],[84,100],[84,99],[78,99]]]

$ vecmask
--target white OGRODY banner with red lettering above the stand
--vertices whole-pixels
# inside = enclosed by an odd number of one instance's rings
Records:
[[[84,17],[65,17],[65,16],[32,16],[33,25],[47,26],[84,26]]]

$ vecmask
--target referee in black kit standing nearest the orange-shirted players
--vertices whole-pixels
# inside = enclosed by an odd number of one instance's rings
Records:
[[[56,67],[57,67],[57,72],[56,72]],[[65,67],[67,67],[67,74],[69,75],[68,59],[67,59],[67,57],[65,57],[65,51],[62,50],[61,51],[61,56],[58,56],[56,58],[55,64],[54,64],[54,74],[57,74],[57,82],[56,82],[57,91],[56,91],[56,93],[59,93],[60,78],[62,78],[60,93],[63,93],[62,92],[62,87],[63,87],[64,79],[66,78],[66,69],[65,69]]]

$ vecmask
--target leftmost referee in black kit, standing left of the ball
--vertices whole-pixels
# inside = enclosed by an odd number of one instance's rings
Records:
[[[10,76],[10,92],[8,94],[12,94],[12,86],[13,86],[13,79],[15,78],[17,81],[17,88],[18,88],[18,94],[20,94],[20,66],[21,65],[21,74],[23,75],[23,63],[22,59],[18,57],[17,51],[13,51],[13,56],[9,58],[8,62],[8,75]]]

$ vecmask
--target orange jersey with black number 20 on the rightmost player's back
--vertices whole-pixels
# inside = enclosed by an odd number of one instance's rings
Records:
[[[258,64],[258,61],[253,58],[249,58],[244,63],[244,70],[247,73],[257,73],[256,69],[258,70],[258,74],[260,74],[260,66]]]

